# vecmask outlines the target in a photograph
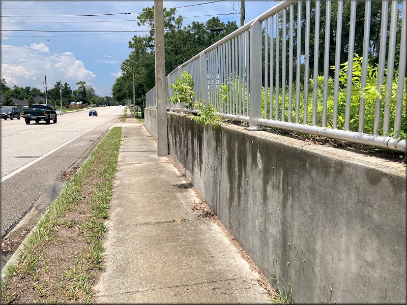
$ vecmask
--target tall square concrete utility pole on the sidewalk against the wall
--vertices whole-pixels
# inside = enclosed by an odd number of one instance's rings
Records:
[[[168,155],[167,105],[165,88],[164,4],[154,0],[154,45],[156,64],[157,155]]]

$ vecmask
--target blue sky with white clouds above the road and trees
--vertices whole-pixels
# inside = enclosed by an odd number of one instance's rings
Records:
[[[240,26],[241,0],[213,1],[163,3],[165,8],[177,8],[176,16],[184,18],[183,25],[215,16]],[[246,22],[275,4],[271,0],[245,0]],[[0,5],[0,77],[9,87],[30,86],[44,92],[46,76],[48,90],[57,81],[67,82],[73,90],[78,87],[76,82],[85,81],[97,96],[105,97],[111,96],[111,87],[121,76],[119,62],[128,58],[131,38],[148,34],[148,28],[137,26],[137,15],[154,1],[2,0]]]

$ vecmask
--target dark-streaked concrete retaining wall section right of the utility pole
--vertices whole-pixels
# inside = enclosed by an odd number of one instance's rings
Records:
[[[402,164],[234,125],[212,132],[173,112],[168,137],[171,157],[295,302],[406,301]]]

